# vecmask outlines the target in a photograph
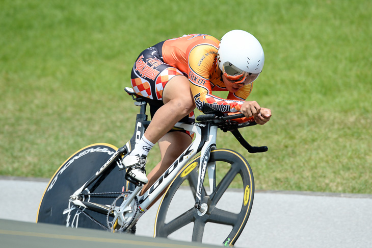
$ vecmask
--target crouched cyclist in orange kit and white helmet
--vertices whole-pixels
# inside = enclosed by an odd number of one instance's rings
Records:
[[[271,110],[245,101],[262,71],[263,49],[250,33],[233,30],[221,41],[205,34],[184,35],[143,51],[131,71],[135,92],[150,99],[151,123],[134,150],[124,157],[130,181],[146,184],[145,192],[192,142],[192,134],[172,129],[194,121],[194,109],[207,105],[224,113],[241,112],[263,125]],[[227,98],[212,91],[228,91]],[[161,161],[146,177],[148,152],[158,143]]]

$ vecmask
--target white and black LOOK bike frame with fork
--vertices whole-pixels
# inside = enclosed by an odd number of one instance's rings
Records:
[[[111,166],[117,166],[116,161],[122,155],[126,155],[131,151],[131,147],[134,147],[137,140],[139,140],[144,134],[146,128],[148,127],[150,121],[147,120],[146,106],[147,103],[144,101],[135,102],[135,105],[140,106],[140,113],[137,114],[136,118],[136,129],[135,134],[132,138],[121,148],[116,151],[116,153],[105,163],[102,167],[93,175],[82,187],[77,189],[71,196],[70,202],[77,206],[82,206],[90,210],[108,214],[109,207],[107,205],[101,205],[96,203],[84,202],[83,199],[79,198],[81,194],[90,184],[92,184],[96,179],[98,179],[102,173]],[[208,177],[210,182],[210,190],[212,191],[215,187],[215,163],[208,163],[210,151],[216,148],[216,136],[217,136],[217,126],[213,126],[210,123],[182,123],[178,122],[175,125],[176,128],[187,130],[195,133],[194,141],[186,148],[186,150],[172,163],[172,165],[163,173],[163,175],[157,179],[157,181],[148,189],[142,196],[139,197],[139,207],[143,211],[160,195],[163,190],[173,181],[177,176],[178,172],[198,153],[201,152],[200,156],[200,168],[199,168],[199,179],[196,191],[195,208],[203,211],[200,206],[201,202],[201,191],[204,182],[205,172],[208,167]],[[136,189],[127,198],[127,205],[131,203],[132,200],[141,191],[143,185],[139,184]],[[124,208],[124,206],[121,206]],[[135,221],[136,222],[136,221]]]

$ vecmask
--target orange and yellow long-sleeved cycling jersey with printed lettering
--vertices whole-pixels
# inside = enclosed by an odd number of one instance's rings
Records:
[[[204,34],[185,35],[166,40],[162,47],[165,63],[187,75],[197,108],[204,104],[221,112],[238,112],[252,91],[253,84],[229,92],[227,98],[212,94],[212,91],[227,91],[222,81],[222,72],[217,66],[220,41]]]

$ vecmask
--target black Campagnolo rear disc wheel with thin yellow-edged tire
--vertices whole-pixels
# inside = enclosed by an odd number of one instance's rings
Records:
[[[104,214],[81,207],[67,214],[63,214],[63,211],[69,207],[69,196],[84,185],[117,150],[118,148],[114,145],[96,143],[71,155],[58,168],[45,188],[36,222],[76,228],[104,229],[82,212],[84,211],[100,224],[106,224]],[[124,176],[125,170],[119,170],[118,166],[112,166],[88,187],[89,193],[132,190],[134,186],[129,184]],[[113,201],[114,199],[94,198],[94,203],[98,204],[111,205]]]

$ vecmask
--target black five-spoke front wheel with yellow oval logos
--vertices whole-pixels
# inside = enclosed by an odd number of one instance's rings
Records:
[[[233,245],[242,233],[252,209],[252,169],[246,159],[234,151],[212,151],[209,162],[216,162],[216,171],[219,171],[217,175],[223,177],[216,179],[217,186],[211,188],[212,192],[207,192],[210,187],[206,178],[200,203],[203,207],[198,210],[194,204],[199,161],[200,157],[197,157],[185,166],[167,189],[156,215],[154,236],[172,237],[171,234],[177,232],[192,241],[215,242],[219,238],[225,245]],[[227,190],[231,184],[239,190]],[[188,203],[179,204],[180,199]],[[218,228],[216,231],[215,227],[209,227],[211,225],[221,226],[222,230]]]

